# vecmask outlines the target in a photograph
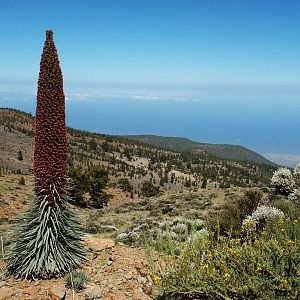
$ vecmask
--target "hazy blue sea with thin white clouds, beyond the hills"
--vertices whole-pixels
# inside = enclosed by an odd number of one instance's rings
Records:
[[[66,93],[68,126],[126,135],[181,136],[207,143],[238,144],[274,162],[300,161],[300,99],[235,93],[101,91]],[[242,95],[243,91],[240,91]],[[156,96],[158,94],[158,96]],[[177,96],[179,94],[179,96]],[[0,89],[0,106],[35,114],[35,93]]]

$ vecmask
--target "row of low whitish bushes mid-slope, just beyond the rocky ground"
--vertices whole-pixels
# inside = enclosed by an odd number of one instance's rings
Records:
[[[175,243],[189,242],[199,235],[207,235],[205,222],[201,219],[176,217],[168,221],[142,219],[134,226],[117,235],[116,239],[128,245],[139,246],[157,240]]]

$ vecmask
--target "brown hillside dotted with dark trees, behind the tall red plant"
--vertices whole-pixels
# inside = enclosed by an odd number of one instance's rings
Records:
[[[0,142],[3,145],[0,165],[3,170],[31,172],[33,128],[34,118],[30,114],[0,109]],[[180,148],[180,140],[175,141]],[[84,172],[99,166],[108,173],[108,187],[119,186],[119,180],[125,178],[130,185],[128,193],[138,196],[142,195],[145,182],[150,182],[154,190],[160,192],[231,185],[266,186],[274,171],[270,164],[223,159],[205,151],[167,150],[125,137],[72,128],[68,128],[68,142],[70,170],[80,167]],[[181,149],[184,147],[182,143]],[[18,159],[20,151],[21,161]]]

